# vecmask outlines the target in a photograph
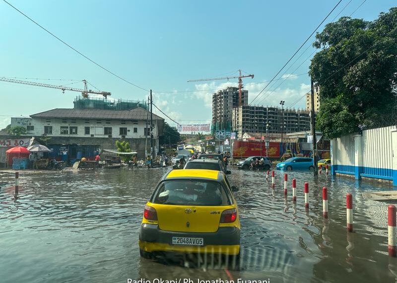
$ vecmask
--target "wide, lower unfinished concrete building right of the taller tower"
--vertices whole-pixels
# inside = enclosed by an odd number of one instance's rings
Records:
[[[265,106],[240,106],[233,109],[233,131],[238,139],[244,133],[281,134],[310,131],[308,111]]]

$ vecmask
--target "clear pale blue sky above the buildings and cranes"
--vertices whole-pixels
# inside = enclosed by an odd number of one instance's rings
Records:
[[[209,122],[212,89],[237,86],[237,79],[200,83],[187,80],[237,75],[241,69],[255,75],[254,79],[243,80],[251,101],[266,84],[260,82],[277,73],[337,3],[337,0],[8,1],[100,65],[145,89],[151,88],[153,102],[180,124]],[[325,23],[346,4],[337,18],[350,15],[362,2],[342,0]],[[395,5],[395,0],[366,0],[352,17],[373,20]],[[112,98],[147,99],[148,92],[95,66],[2,0],[0,25],[0,76],[87,79],[100,90],[110,91]],[[271,84],[266,88],[269,92],[265,90],[265,95],[254,104],[277,105],[282,99],[289,106],[310,89],[308,75],[295,75],[308,71],[310,60],[304,60],[315,51],[311,47],[313,40],[314,36],[295,57],[301,55],[301,58],[292,65],[293,59],[286,67],[290,69],[284,77],[290,77],[281,85],[282,80]],[[34,81],[57,85],[73,82]],[[70,86],[83,88],[81,82]],[[0,128],[9,124],[10,116],[72,108],[77,94],[0,82]],[[302,99],[293,107],[304,108],[304,103]]]

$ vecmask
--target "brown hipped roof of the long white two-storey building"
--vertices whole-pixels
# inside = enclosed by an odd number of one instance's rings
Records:
[[[55,108],[52,110],[30,115],[32,118],[68,118],[68,119],[107,119],[107,120],[146,120],[147,111],[141,107],[130,110],[103,110],[103,109],[68,109]],[[153,114],[153,120],[164,120]],[[150,113],[149,113],[150,119]]]

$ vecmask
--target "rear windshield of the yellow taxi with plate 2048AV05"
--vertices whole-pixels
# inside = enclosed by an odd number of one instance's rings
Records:
[[[228,206],[231,200],[222,185],[202,180],[168,180],[157,188],[155,204],[180,206]]]

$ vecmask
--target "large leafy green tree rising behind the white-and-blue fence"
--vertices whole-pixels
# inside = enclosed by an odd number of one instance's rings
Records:
[[[310,75],[320,86],[319,128],[328,138],[394,125],[397,7],[372,21],[341,17],[316,35]]]

